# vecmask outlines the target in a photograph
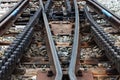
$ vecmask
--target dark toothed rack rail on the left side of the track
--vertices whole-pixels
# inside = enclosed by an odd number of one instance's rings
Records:
[[[30,40],[33,35],[33,26],[36,25],[41,16],[41,8],[34,13],[30,21],[26,25],[26,28],[16,37],[10,47],[4,54],[4,58],[0,62],[4,62],[0,65],[0,80],[6,80],[16,67],[16,63],[21,59],[23,52],[30,44]],[[7,63],[7,65],[6,65]]]

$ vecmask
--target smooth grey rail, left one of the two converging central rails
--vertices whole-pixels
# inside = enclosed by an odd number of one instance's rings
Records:
[[[55,44],[54,44],[53,39],[52,39],[52,33],[51,33],[51,30],[50,30],[50,27],[49,27],[49,23],[48,23],[48,20],[47,20],[47,16],[46,16],[46,13],[45,13],[45,10],[44,10],[42,0],[40,0],[40,4],[41,4],[41,7],[42,7],[43,20],[44,20],[44,24],[45,24],[45,28],[46,28],[46,32],[47,32],[47,36],[48,36],[48,41],[49,41],[49,44],[50,44],[50,50],[51,50],[51,53],[52,53],[55,70],[56,70],[55,80],[62,80],[62,76],[63,76],[62,68],[61,68],[61,65],[60,65],[60,62],[59,62],[59,58],[58,58],[58,55],[57,55]]]

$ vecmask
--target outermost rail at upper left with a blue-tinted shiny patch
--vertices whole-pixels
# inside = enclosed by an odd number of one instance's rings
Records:
[[[28,6],[29,0],[23,0],[20,2],[10,13],[5,16],[0,22],[0,36],[10,27],[15,19],[22,13],[22,11]]]

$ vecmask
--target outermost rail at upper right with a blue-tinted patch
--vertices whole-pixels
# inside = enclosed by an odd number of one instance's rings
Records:
[[[91,7],[93,10],[95,10],[97,13],[104,14],[104,16],[105,16],[104,18],[108,19],[108,21],[111,22],[112,25],[115,28],[117,28],[117,29],[119,28],[120,29],[120,27],[119,27],[119,25],[120,25],[120,18],[117,17],[115,14],[113,14],[108,9],[106,9],[105,7],[103,7],[102,5],[100,5],[99,3],[97,3],[94,0],[88,0],[87,1],[87,5],[89,7]]]

